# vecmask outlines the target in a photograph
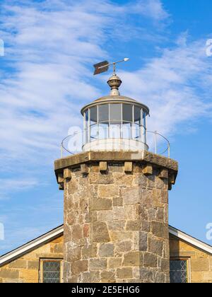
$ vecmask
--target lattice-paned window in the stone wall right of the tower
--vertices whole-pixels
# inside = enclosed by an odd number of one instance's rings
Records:
[[[188,282],[187,260],[170,260],[170,282],[183,284]]]

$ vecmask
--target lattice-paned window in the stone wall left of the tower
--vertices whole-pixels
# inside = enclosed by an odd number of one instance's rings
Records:
[[[62,260],[40,260],[40,281],[42,283],[61,283]]]

